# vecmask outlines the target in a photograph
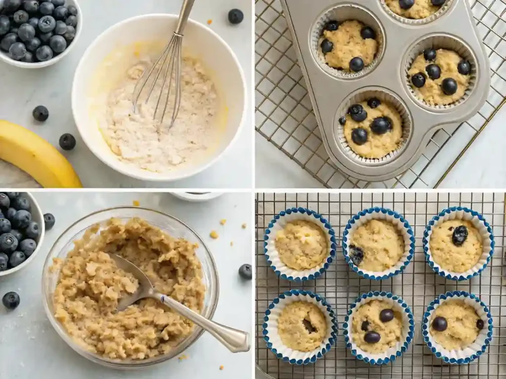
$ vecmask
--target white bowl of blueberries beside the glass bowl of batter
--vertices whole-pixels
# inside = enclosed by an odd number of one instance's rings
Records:
[[[30,194],[0,192],[0,277],[26,267],[54,224],[54,216],[43,215]]]

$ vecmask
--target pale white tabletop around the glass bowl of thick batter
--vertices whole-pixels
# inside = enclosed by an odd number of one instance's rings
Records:
[[[205,203],[189,203],[170,194],[150,193],[36,193],[43,212],[56,217],[55,227],[46,233],[43,250],[23,270],[0,280],[0,296],[16,291],[21,303],[7,312],[0,305],[0,378],[247,378],[252,372],[252,354],[232,354],[213,337],[203,334],[185,354],[140,371],[115,371],[82,358],[57,335],[44,312],[40,280],[49,249],[61,232],[79,217],[115,205],[141,206],[170,213],[189,224],[212,251],[218,267],[220,298],[214,320],[247,330],[252,329],[252,282],[237,274],[252,264],[252,196],[225,194]],[[227,222],[220,225],[220,219]],[[242,223],[247,224],[242,229]],[[217,240],[209,238],[217,230]],[[234,245],[231,247],[230,242]],[[220,366],[223,365],[223,370]]]

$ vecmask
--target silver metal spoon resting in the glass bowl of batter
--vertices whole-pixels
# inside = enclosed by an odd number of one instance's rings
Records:
[[[116,265],[126,272],[130,272],[139,280],[139,289],[135,294],[129,297],[123,297],[118,303],[118,312],[126,309],[126,307],[134,304],[139,299],[152,298],[161,301],[167,307],[175,310],[179,314],[185,316],[189,320],[195,322],[202,329],[208,331],[213,337],[220,341],[232,353],[249,351],[249,334],[245,331],[234,329],[217,322],[208,320],[190,308],[184,306],[170,296],[158,293],[149,278],[142,270],[132,262],[121,258],[116,254],[110,254]]]

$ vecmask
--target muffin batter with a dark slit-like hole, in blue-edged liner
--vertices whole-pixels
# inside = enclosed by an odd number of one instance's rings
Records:
[[[327,335],[327,321],[320,308],[297,301],[283,308],[278,319],[278,333],[283,344],[298,351],[318,348]]]

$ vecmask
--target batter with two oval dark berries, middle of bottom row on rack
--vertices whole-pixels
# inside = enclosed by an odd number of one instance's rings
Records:
[[[391,310],[393,318],[390,321],[381,320],[383,310]],[[381,337],[378,342],[366,342],[368,333],[377,333]],[[352,322],[353,342],[363,351],[371,354],[383,353],[394,347],[402,338],[402,316],[394,311],[387,302],[372,300],[353,314]]]

